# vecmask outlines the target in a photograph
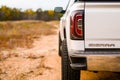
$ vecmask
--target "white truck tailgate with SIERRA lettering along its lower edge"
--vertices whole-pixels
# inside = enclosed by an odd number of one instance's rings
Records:
[[[120,48],[120,3],[85,3],[85,48]]]

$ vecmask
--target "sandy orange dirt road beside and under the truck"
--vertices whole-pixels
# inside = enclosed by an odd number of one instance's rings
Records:
[[[57,55],[57,41],[57,34],[41,36],[35,39],[30,49],[2,51],[0,80],[61,80],[61,58]],[[109,72],[82,71],[81,80],[120,80],[120,77]]]

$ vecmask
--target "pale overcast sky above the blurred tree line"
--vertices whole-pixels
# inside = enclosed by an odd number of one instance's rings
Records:
[[[0,7],[6,5],[8,7],[16,7],[25,9],[36,10],[42,8],[42,10],[53,10],[54,7],[66,7],[68,0],[0,0]]]

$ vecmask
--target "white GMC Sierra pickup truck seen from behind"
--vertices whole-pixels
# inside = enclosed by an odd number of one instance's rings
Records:
[[[80,80],[80,70],[120,72],[120,1],[70,0],[60,20],[62,80]]]

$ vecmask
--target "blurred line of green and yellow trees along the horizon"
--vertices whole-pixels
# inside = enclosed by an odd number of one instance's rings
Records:
[[[0,7],[0,21],[7,20],[59,20],[62,16],[61,13],[55,13],[53,10],[43,11],[41,8],[38,8],[36,11],[32,9],[27,9],[22,11],[18,8],[10,8],[7,6]]]

